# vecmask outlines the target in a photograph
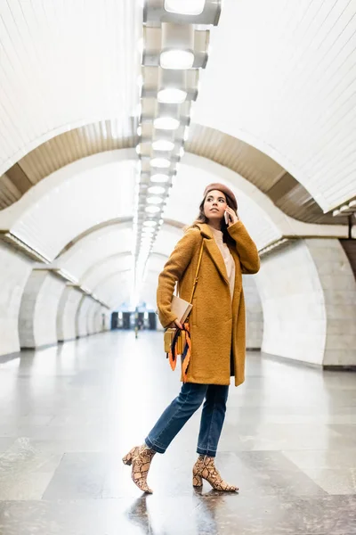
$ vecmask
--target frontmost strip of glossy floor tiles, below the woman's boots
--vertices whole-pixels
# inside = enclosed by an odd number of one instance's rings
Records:
[[[6,535],[354,535],[356,498],[241,497],[3,502]]]

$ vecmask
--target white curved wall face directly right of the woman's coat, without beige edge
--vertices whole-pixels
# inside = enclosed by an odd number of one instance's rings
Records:
[[[303,241],[262,261],[255,276],[263,305],[262,350],[322,364],[327,317],[312,255]]]

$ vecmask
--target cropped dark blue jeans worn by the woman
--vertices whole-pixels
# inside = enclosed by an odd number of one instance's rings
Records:
[[[220,384],[183,383],[177,398],[166,407],[145,442],[158,453],[165,453],[174,437],[195,411],[204,403],[200,420],[198,449],[200,455],[215,457],[223,429],[229,386]]]

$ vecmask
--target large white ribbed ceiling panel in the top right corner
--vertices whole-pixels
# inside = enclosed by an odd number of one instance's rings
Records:
[[[225,0],[195,122],[278,161],[328,211],[356,194],[356,2]]]

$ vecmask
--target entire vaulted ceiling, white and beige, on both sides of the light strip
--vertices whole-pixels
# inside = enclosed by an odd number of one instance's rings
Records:
[[[109,306],[132,272],[142,21],[132,0],[0,3],[0,229]],[[356,3],[225,0],[211,40],[143,300],[209,181],[262,249],[347,235],[332,210],[356,198]]]

